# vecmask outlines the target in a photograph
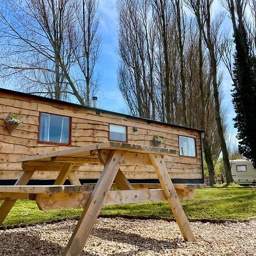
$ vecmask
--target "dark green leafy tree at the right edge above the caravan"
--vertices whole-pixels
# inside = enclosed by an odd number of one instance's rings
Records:
[[[240,154],[252,160],[256,168],[256,58],[251,55],[243,24],[234,32],[234,118]]]

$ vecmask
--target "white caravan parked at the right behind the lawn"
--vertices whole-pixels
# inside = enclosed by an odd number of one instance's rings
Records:
[[[256,184],[256,170],[253,168],[251,161],[236,159],[230,160],[230,164],[235,183],[243,185]]]

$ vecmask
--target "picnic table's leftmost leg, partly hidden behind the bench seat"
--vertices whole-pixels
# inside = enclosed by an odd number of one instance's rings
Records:
[[[30,181],[33,174],[34,171],[23,171],[22,174],[19,176],[19,179],[16,181],[15,185],[27,185],[28,181]],[[11,208],[13,208],[15,202],[15,199],[3,201],[0,207],[0,225],[5,220]]]

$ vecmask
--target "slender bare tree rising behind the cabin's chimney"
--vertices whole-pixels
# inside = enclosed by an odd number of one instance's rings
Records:
[[[84,95],[86,106],[90,106],[90,98],[98,88],[99,77],[96,73],[96,64],[101,52],[101,36],[97,32],[100,24],[97,9],[98,0],[77,1],[78,26],[73,33],[74,38],[71,38],[71,40],[75,39],[75,43],[72,44],[73,52],[76,64],[84,77],[77,83],[80,93]]]

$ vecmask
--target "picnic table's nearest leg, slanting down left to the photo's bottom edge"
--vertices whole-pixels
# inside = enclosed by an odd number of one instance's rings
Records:
[[[92,231],[94,221],[100,213],[109,189],[121,166],[124,155],[125,152],[122,150],[113,150],[111,152],[63,255],[81,255]]]

